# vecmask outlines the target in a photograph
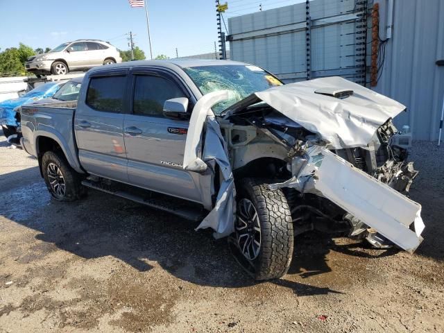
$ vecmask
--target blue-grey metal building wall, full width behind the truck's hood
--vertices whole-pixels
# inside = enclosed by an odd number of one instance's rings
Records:
[[[287,83],[343,76],[371,86],[407,106],[398,127],[409,125],[414,139],[438,138],[444,0],[313,0],[232,17],[228,29],[232,60]]]

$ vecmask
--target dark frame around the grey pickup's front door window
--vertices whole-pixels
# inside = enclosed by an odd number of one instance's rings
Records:
[[[135,96],[135,85],[136,85],[136,78],[137,76],[157,76],[160,78],[164,78],[165,80],[169,80],[172,83],[176,84],[179,89],[183,92],[185,97],[188,99],[188,113],[191,116],[191,111],[194,108],[194,104],[196,101],[196,97],[191,93],[189,90],[189,87],[182,81],[182,78],[180,78],[176,73],[173,71],[169,71],[168,69],[164,68],[153,68],[153,67],[133,67],[130,71],[131,76],[131,82],[130,82],[130,108],[129,108],[129,114],[133,114],[135,116],[140,117],[150,117],[150,118],[157,118],[157,119],[169,119],[167,117],[162,116],[153,116],[148,114],[137,114],[134,113],[134,96]]]

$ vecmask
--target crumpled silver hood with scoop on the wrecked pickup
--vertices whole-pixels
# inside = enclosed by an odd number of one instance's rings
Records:
[[[350,89],[353,94],[338,99],[315,93],[325,88]],[[281,85],[254,95],[336,149],[366,146],[379,126],[406,108],[339,76]],[[253,104],[251,96],[247,99]]]

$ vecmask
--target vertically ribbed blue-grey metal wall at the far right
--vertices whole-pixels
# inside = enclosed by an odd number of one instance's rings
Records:
[[[385,38],[386,1],[381,9],[379,34]],[[395,125],[409,125],[415,139],[438,138],[444,97],[444,0],[395,0],[393,33],[375,91],[407,106]]]

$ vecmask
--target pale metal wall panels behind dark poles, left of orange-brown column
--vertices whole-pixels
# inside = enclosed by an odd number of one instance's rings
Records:
[[[365,28],[357,2],[366,1],[309,2],[311,78],[340,75],[361,83],[364,57],[357,42],[365,47],[359,39]],[[305,3],[232,17],[228,26],[232,60],[264,67],[286,82],[307,78]]]

